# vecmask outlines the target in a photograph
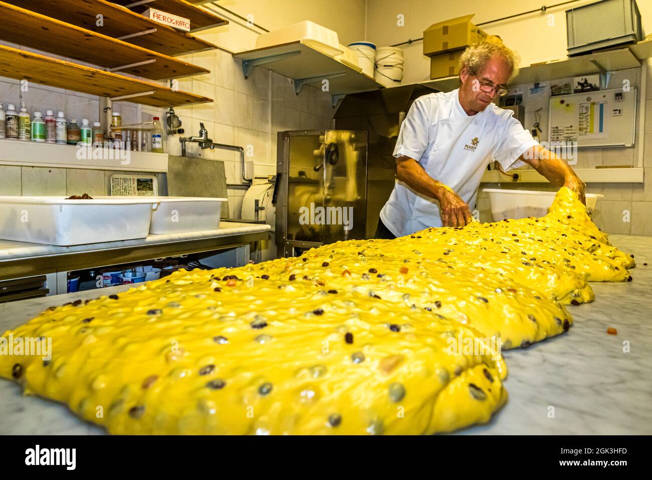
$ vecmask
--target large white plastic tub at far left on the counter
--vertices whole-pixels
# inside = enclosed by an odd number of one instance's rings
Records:
[[[149,198],[0,197],[0,238],[57,246],[145,238]]]

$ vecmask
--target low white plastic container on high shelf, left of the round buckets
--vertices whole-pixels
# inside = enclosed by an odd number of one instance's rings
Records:
[[[256,38],[256,48],[267,48],[284,43],[297,42],[314,46],[327,55],[336,56],[342,54],[340,40],[337,32],[319,24],[304,20],[297,24],[288,25]]]

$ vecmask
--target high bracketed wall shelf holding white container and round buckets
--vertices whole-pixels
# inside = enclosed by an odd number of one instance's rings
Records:
[[[306,84],[329,81],[329,93],[336,97],[346,93],[385,88],[370,76],[324,54],[301,41],[266,48],[256,48],[233,55],[243,62],[244,78],[256,65],[280,73],[294,80],[299,93]]]

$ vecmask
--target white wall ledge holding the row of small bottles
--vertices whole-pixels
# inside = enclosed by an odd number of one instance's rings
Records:
[[[21,140],[0,140],[0,165],[23,167],[86,168],[95,170],[129,170],[167,172],[166,153],[132,152],[104,149],[103,158],[78,158],[74,145],[56,145]],[[99,155],[98,155],[99,156]],[[112,156],[112,158],[111,158]]]

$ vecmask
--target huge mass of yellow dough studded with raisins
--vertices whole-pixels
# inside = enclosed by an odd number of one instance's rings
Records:
[[[50,308],[3,336],[52,338],[52,360],[3,355],[0,376],[113,434],[450,432],[506,402],[500,347],[565,332],[562,303],[631,266],[561,189],[541,219],[180,270]]]

